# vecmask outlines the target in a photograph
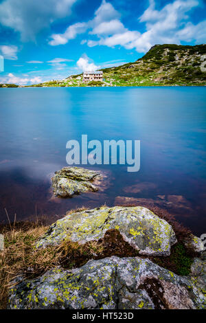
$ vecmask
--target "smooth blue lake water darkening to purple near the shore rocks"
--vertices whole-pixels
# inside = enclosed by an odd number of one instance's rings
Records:
[[[0,221],[5,208],[11,219],[53,220],[71,208],[133,197],[205,233],[205,99],[204,87],[1,89]],[[88,166],[109,172],[106,191],[53,201],[49,177],[67,166],[67,141],[82,134],[141,140],[141,168]]]

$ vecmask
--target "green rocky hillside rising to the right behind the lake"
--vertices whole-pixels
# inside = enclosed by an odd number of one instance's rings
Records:
[[[134,63],[101,69],[104,82],[82,82],[82,74],[38,87],[206,85],[206,45],[155,45]]]

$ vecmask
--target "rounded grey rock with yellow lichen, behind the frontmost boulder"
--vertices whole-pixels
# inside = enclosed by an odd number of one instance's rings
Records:
[[[58,245],[66,238],[80,244],[98,241],[108,230],[118,230],[139,254],[166,256],[176,242],[171,225],[147,208],[95,208],[73,212],[56,221],[36,247]]]

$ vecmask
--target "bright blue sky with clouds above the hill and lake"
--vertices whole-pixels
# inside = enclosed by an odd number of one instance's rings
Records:
[[[206,43],[206,0],[0,0],[0,83],[30,85]]]

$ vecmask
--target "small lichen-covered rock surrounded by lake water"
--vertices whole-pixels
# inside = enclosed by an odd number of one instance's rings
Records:
[[[100,180],[100,172],[81,167],[64,167],[52,177],[52,187],[56,197],[72,197],[88,191],[97,191],[95,179]]]

